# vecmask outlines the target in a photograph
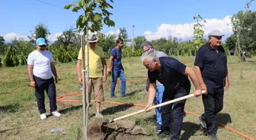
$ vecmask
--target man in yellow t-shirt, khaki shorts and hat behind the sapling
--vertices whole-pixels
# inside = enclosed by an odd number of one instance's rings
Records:
[[[104,58],[103,49],[96,45],[98,37],[95,35],[89,36],[89,102],[91,102],[91,92],[94,92],[96,114],[95,117],[102,118],[101,102],[104,101],[103,82],[107,80],[107,63]],[[85,46],[85,59],[87,59],[87,46]],[[85,61],[85,67],[88,65]],[[102,74],[102,68],[104,73]],[[82,85],[82,48],[78,54],[78,62],[76,66],[78,74],[78,82]]]

